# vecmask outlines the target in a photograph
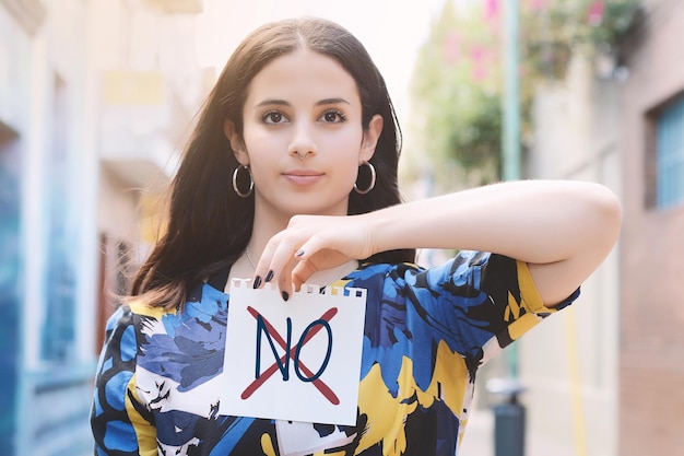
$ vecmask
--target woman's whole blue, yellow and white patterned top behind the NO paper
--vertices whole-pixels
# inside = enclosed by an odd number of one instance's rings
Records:
[[[544,307],[526,264],[477,252],[431,269],[364,265],[335,285],[368,291],[356,425],[305,424],[287,455],[453,456],[477,369],[578,295]],[[200,283],[182,312],[132,303],[113,315],[96,455],[285,456],[292,423],[217,413],[227,306]]]

